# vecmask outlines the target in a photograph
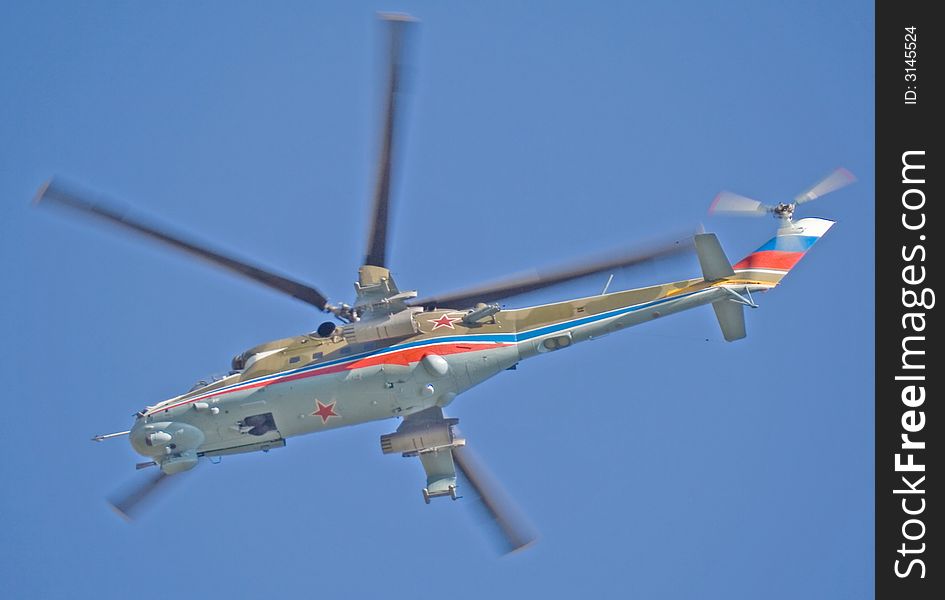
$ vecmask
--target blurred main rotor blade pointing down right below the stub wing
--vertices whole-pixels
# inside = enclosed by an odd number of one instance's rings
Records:
[[[453,448],[453,462],[476,491],[482,508],[498,527],[503,554],[520,550],[535,541],[535,535],[524,519],[465,446]]]

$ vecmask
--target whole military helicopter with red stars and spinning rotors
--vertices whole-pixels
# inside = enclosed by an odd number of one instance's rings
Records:
[[[533,534],[470,455],[456,428],[458,419],[446,417],[443,409],[459,394],[522,360],[698,306],[712,305],[726,340],[745,337],[744,307],[757,306],[753,294],[778,285],[833,224],[816,218],[795,223],[795,205],[852,181],[846,171],[837,171],[795,202],[776,207],[720,194],[713,203],[715,212],[771,212],[780,219],[775,237],[734,265],[714,234],[700,233],[605,259],[419,297],[398,287],[387,261],[405,36],[415,21],[397,14],[381,18],[389,44],[384,118],[367,246],[352,304],[329,302],[307,283],[186,239],[61,181],[50,180],[37,192],[37,203],[74,209],[163,243],[314,306],[337,321],[241,352],[226,376],[139,410],[128,431],[95,436],[96,441],[127,436],[147,459],[137,467],[155,467],[147,483],[114,500],[123,515],[136,514],[169,476],[193,469],[201,459],[269,451],[285,446],[293,436],[396,417],[400,424],[381,436],[381,450],[419,458],[426,474],[423,499],[429,503],[460,497],[457,474],[464,475],[498,524],[505,549],[522,548]],[[594,296],[518,309],[498,304],[693,248],[700,277],[610,293],[608,281]]]

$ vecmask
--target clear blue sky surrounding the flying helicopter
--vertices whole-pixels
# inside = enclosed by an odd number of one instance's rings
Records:
[[[445,291],[777,202],[838,225],[721,341],[708,307],[525,362],[449,414],[540,532],[426,506],[393,420],[202,464],[128,524],[120,431],[310,307],[69,215],[53,174],[350,300],[376,10],[422,20],[391,265]],[[865,598],[873,589],[873,7],[845,2],[5,2],[0,596]],[[615,285],[696,275],[695,260]],[[597,293],[605,277],[568,292]],[[535,301],[560,299],[546,292]]]

